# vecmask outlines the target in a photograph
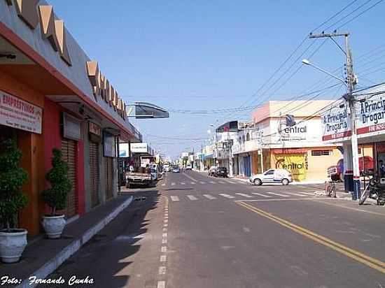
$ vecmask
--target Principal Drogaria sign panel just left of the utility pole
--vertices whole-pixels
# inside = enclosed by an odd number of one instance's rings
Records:
[[[321,113],[322,140],[332,141],[351,136],[351,122],[344,101],[328,106]]]

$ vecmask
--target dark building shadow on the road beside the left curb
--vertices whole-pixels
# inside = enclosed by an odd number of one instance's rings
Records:
[[[130,270],[127,269],[134,263],[132,259],[135,259],[132,255],[141,249],[141,245],[137,242],[144,238],[144,234],[148,231],[146,226],[151,223],[151,220],[145,219],[146,215],[158,207],[160,194],[158,191],[136,192],[134,197],[139,200],[132,201],[128,208],[48,278],[62,277],[66,280],[63,287],[69,285],[68,280],[73,275],[78,279],[93,278],[94,283],[71,287],[126,287],[131,277]],[[38,287],[52,287],[52,285]]]

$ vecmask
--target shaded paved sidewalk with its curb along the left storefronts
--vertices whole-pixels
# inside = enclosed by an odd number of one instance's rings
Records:
[[[26,281],[31,275],[45,278],[55,271],[66,259],[87,243],[92,236],[104,228],[132,202],[133,196],[118,196],[103,206],[94,208],[89,213],[67,224],[62,238],[32,241],[27,245],[22,258],[15,264],[0,264],[0,278],[24,280],[18,287],[34,287]],[[20,284],[20,283],[19,283]],[[6,286],[13,287],[13,286]]]

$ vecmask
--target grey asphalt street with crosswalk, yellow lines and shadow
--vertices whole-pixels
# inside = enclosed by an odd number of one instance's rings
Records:
[[[385,287],[385,208],[322,188],[167,173],[130,190],[146,199],[51,276],[94,278],[72,287]]]

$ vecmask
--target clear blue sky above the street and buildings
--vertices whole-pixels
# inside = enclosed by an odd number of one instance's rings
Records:
[[[328,29],[333,31],[377,1],[355,1],[317,32],[367,2]],[[335,84],[330,80],[311,87],[327,78],[310,67],[298,68],[300,60],[294,60],[311,45],[300,59],[314,53],[312,62],[332,71],[344,64],[344,55],[330,40],[321,47],[323,40],[307,40],[280,71],[288,69],[288,73],[276,80],[281,75],[278,73],[253,96],[309,31],[352,1],[49,2],[126,102],[148,101],[170,110],[212,110],[256,106]],[[363,75],[361,86],[385,80],[384,11],[382,1],[339,30],[351,32],[357,73]],[[358,58],[370,51],[372,54]],[[343,76],[341,70],[335,73]],[[337,88],[325,91],[318,99],[336,98],[343,92]],[[171,113],[169,119],[133,122],[153,147],[175,157],[193,146],[200,150],[200,139],[208,138],[210,124],[249,120],[250,114],[250,110],[208,115]],[[195,138],[199,140],[190,140]]]

